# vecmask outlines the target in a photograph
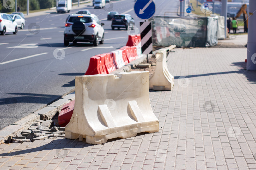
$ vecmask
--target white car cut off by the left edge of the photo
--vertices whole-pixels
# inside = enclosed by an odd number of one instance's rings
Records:
[[[13,34],[18,32],[18,25],[9,14],[0,13],[0,32],[2,35],[6,32],[13,32]]]

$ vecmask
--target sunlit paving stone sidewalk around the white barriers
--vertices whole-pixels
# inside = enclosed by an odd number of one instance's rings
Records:
[[[172,91],[150,91],[160,131],[91,145],[0,145],[0,169],[256,169],[256,71],[247,48],[174,49]]]

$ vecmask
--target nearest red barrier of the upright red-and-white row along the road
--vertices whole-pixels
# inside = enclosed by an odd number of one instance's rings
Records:
[[[90,59],[89,67],[84,75],[106,74],[105,59],[99,56],[93,56]]]

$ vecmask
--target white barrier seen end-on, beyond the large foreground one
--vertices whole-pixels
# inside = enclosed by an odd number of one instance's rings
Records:
[[[174,86],[174,77],[168,71],[166,64],[166,50],[158,50],[156,53],[156,68],[154,74],[150,77],[149,89],[152,90],[172,90]]]

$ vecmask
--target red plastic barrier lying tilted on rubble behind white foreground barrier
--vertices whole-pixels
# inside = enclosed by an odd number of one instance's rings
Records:
[[[75,100],[62,106],[62,109],[58,116],[59,125],[61,127],[65,127],[69,123],[74,111],[74,106]]]

